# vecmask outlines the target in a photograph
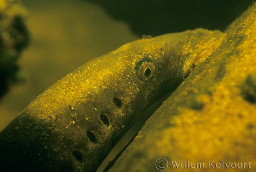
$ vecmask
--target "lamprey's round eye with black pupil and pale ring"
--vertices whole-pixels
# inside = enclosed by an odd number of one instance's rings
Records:
[[[154,78],[156,69],[153,61],[148,57],[144,57],[137,63],[135,70],[141,80],[150,81]]]

